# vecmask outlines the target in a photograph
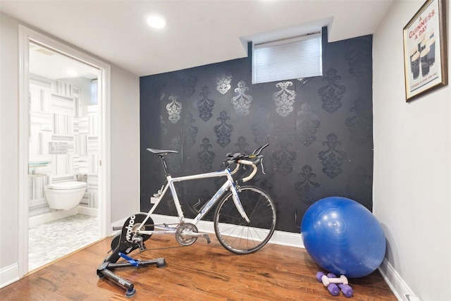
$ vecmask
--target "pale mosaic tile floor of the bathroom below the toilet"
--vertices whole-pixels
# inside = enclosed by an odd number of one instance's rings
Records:
[[[28,270],[74,252],[100,239],[97,217],[77,214],[30,228]]]

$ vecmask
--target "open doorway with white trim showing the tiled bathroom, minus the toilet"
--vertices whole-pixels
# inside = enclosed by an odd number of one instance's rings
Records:
[[[110,67],[27,27],[19,37],[23,276],[110,234]],[[66,182],[85,183],[80,202],[50,206],[44,188]]]

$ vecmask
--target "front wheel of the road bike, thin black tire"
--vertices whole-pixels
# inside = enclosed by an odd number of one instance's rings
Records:
[[[214,214],[214,231],[221,245],[236,254],[249,254],[266,245],[276,228],[276,206],[263,190],[243,186],[238,197],[250,222],[242,218],[232,192],[221,199]]]

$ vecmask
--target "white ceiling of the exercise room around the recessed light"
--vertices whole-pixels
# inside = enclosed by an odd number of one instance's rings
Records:
[[[375,32],[394,0],[0,0],[0,11],[138,76],[247,56],[328,26],[335,42]],[[167,25],[147,26],[159,13]]]

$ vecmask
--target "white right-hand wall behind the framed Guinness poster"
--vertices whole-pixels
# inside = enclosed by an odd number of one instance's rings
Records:
[[[373,35],[373,213],[388,240],[381,271],[405,285],[395,289],[450,300],[451,87],[409,103],[404,94],[402,29],[422,4],[395,1]]]

